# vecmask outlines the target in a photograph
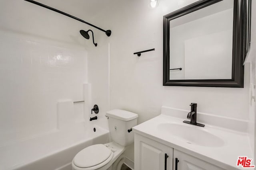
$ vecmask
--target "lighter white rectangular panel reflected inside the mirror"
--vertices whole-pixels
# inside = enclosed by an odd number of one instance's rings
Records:
[[[232,29],[187,39],[184,49],[185,80],[232,78]]]

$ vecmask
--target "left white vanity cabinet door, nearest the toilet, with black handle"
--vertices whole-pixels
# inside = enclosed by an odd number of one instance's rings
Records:
[[[173,149],[171,147],[136,133],[134,137],[135,170],[172,170]]]

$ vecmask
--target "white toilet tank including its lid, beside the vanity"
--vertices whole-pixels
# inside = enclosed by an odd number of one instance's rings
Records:
[[[128,146],[134,142],[134,133],[128,133],[128,129],[137,125],[138,115],[130,111],[114,109],[106,112],[108,127],[112,141],[122,146]]]

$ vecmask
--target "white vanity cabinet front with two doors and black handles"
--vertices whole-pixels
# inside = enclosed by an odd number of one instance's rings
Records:
[[[134,160],[135,170],[224,170],[137,133],[134,133]]]

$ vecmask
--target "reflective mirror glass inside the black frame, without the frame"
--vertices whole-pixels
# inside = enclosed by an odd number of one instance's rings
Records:
[[[170,70],[170,80],[231,79],[233,4],[223,0],[170,20],[170,69],[183,68]]]

